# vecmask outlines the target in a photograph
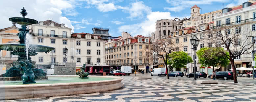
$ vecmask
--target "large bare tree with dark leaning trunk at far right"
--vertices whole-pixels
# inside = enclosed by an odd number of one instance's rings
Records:
[[[243,22],[242,24],[240,24]],[[247,21],[248,22],[248,21]],[[255,32],[250,29],[250,24],[245,21],[228,23],[215,26],[208,30],[208,39],[204,40],[208,44],[213,44],[216,47],[222,47],[224,50],[220,53],[230,60],[233,68],[234,82],[237,81],[237,73],[235,59],[243,56],[250,56],[252,52],[253,42],[251,36],[255,36]],[[211,53],[208,51],[208,53]]]

